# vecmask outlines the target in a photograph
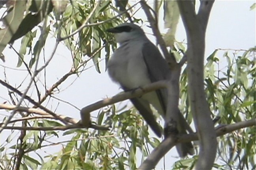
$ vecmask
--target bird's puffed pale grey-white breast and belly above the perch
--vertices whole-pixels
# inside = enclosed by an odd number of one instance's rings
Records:
[[[141,52],[142,44],[139,41],[129,42],[114,52],[108,63],[109,76],[113,81],[121,82],[122,86],[129,89],[151,83]]]

